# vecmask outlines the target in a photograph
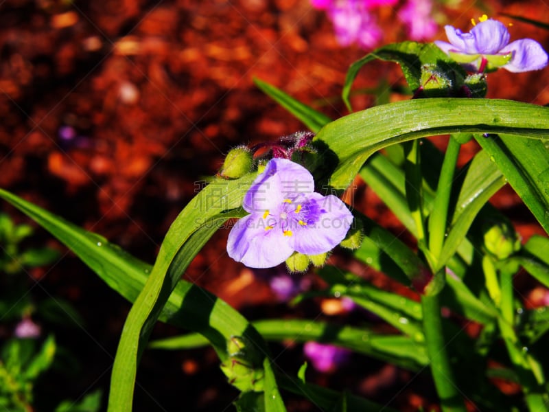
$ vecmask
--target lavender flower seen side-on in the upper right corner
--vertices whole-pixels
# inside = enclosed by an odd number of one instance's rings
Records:
[[[483,17],[469,33],[445,26],[449,43],[434,43],[456,62],[474,65],[478,72],[502,67],[520,73],[546,67],[547,53],[537,41],[523,38],[509,43],[510,35],[505,25]]]

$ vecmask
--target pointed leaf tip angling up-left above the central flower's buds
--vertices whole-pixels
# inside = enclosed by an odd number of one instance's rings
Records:
[[[307,106],[304,103],[295,100],[290,95],[284,93],[277,87],[272,86],[262,80],[254,79],[255,85],[261,89],[266,95],[278,102],[283,108],[297,117],[305,126],[314,133],[318,132],[325,124],[331,122],[331,119],[314,108]]]

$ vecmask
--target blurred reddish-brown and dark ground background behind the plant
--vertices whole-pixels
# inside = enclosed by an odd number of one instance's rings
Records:
[[[541,0],[371,1],[359,21],[349,23],[356,32],[342,32],[342,17],[324,3],[329,2],[4,0],[0,187],[152,264],[172,220],[205,177],[219,170],[231,148],[305,129],[261,93],[253,78],[335,119],[348,113],[339,97],[347,68],[380,45],[446,40],[445,24],[467,31],[471,18],[487,13],[513,23],[511,40],[535,38],[549,49],[548,30],[503,16],[549,23],[549,4]],[[353,10],[349,13],[347,17]],[[489,97],[547,104],[548,80],[547,70],[492,73]],[[355,82],[353,107],[373,106],[381,95],[390,101],[408,99],[404,85],[397,65],[373,62]],[[444,147],[445,139],[435,140]],[[466,149],[460,164],[476,146],[471,143]],[[352,196],[355,207],[370,218],[402,232],[360,182]],[[509,188],[493,203],[513,218],[523,238],[544,233]],[[5,244],[6,233],[28,220],[4,203],[0,207]],[[56,337],[56,363],[36,382],[34,410],[54,410],[61,400],[82,400],[97,390],[106,397],[130,304],[45,231],[28,230],[21,242],[12,238],[17,253],[40,249],[41,254],[12,270],[4,263],[0,341],[14,336],[23,321],[31,321],[38,339]],[[364,316],[323,301],[288,308],[288,288],[314,287],[318,281],[309,275],[288,279],[283,268],[253,272],[236,264],[224,253],[227,233],[212,238],[185,279],[211,290],[248,319],[281,313],[320,314],[336,321]],[[15,253],[10,250],[3,246],[7,261]],[[378,286],[391,287],[383,275],[358,270]],[[278,283],[273,284],[274,278]],[[539,294],[525,288],[525,293]],[[153,337],[180,332],[159,324]],[[299,345],[274,345],[277,351],[292,374],[305,359]],[[406,386],[406,371],[360,356],[355,361],[313,371],[311,380],[392,402],[403,411],[433,406],[436,397],[428,374]],[[137,380],[137,411],[233,410],[231,402],[238,394],[209,349],[148,351]],[[316,410],[291,396],[288,409]]]

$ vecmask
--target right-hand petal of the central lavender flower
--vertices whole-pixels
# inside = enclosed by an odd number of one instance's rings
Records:
[[[318,207],[318,218],[312,225],[292,228],[290,245],[305,255],[318,255],[334,249],[347,235],[353,215],[336,196],[314,193],[309,202]]]

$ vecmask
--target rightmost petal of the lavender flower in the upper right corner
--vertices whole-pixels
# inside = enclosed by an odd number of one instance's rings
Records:
[[[513,52],[513,57],[503,68],[513,73],[539,70],[547,65],[547,53],[537,41],[531,38],[513,41],[501,51],[502,54],[509,52]]]

